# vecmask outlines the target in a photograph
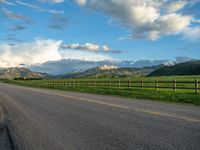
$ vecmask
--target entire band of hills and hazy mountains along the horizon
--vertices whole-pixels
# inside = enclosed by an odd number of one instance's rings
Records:
[[[144,61],[143,61],[144,62]],[[133,67],[136,63],[131,61],[82,61],[82,60],[61,60],[46,62],[38,66],[26,66],[26,68],[4,68],[0,69],[0,78],[80,78],[80,77],[131,77],[131,76],[172,76],[172,75],[200,75],[200,61],[188,61],[183,63],[164,63],[146,67]],[[59,66],[60,64],[60,66]],[[109,64],[109,65],[105,65]],[[114,65],[115,64],[115,65]],[[46,68],[44,67],[46,66]],[[48,67],[47,67],[48,66]],[[128,67],[127,67],[128,66]],[[31,70],[29,70],[30,68]],[[88,69],[87,69],[88,68]],[[33,70],[36,71],[33,71]],[[41,69],[42,71],[39,71]],[[44,71],[44,69],[47,69]],[[51,70],[48,70],[51,69]],[[41,72],[52,72],[54,75]],[[61,72],[62,74],[56,74]]]

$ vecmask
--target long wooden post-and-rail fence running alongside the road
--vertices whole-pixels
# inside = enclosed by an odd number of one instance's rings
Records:
[[[174,92],[179,90],[193,90],[195,93],[199,93],[199,81],[177,81],[176,79],[171,81],[145,81],[145,80],[69,80],[69,81],[11,81],[7,79],[1,79],[2,82],[15,82],[22,85],[38,86],[38,87],[90,87],[90,88],[119,88],[119,89],[171,89]]]

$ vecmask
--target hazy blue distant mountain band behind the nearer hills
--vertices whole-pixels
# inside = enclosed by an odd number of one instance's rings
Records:
[[[76,72],[86,71],[98,66],[108,65],[117,66],[118,68],[143,68],[158,65],[173,65],[185,61],[190,61],[191,58],[177,57],[175,60],[138,60],[138,61],[117,61],[117,60],[103,60],[103,61],[88,61],[79,59],[62,59],[58,61],[47,61],[42,64],[31,66],[23,65],[31,71],[45,72],[52,75],[64,75]]]

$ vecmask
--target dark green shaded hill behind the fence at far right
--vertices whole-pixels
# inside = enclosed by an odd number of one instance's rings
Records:
[[[174,75],[200,75],[200,61],[189,61],[175,64],[173,66],[164,66],[149,74],[149,76]]]

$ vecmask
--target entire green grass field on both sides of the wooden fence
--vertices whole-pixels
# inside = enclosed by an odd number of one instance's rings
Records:
[[[195,84],[195,79],[200,81],[200,76],[9,80],[8,82],[22,86],[200,105],[200,94],[196,93],[195,87],[198,88],[198,85]],[[176,89],[173,88],[173,80],[176,80]]]

